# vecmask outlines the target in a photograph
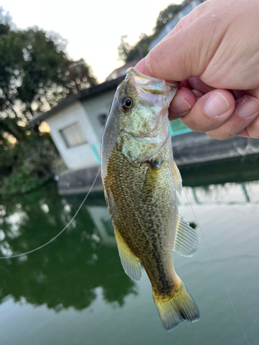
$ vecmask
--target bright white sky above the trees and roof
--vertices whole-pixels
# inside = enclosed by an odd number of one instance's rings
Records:
[[[173,3],[181,3],[175,0]],[[84,58],[99,82],[122,66],[117,47],[128,34],[128,43],[138,41],[142,32],[153,33],[155,21],[170,0],[2,0],[18,28],[39,26],[68,40],[71,59]]]

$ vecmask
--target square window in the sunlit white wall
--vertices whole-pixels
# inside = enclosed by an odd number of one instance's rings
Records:
[[[73,148],[82,144],[87,144],[86,135],[82,130],[80,124],[77,122],[62,130],[59,130],[68,148]]]

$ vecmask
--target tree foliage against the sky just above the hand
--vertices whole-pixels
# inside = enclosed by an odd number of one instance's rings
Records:
[[[146,34],[141,34],[139,41],[135,43],[134,46],[131,46],[128,42],[126,42],[127,35],[121,37],[121,42],[118,47],[119,51],[119,59],[126,62],[132,60],[140,60],[143,59],[148,54],[148,45],[155,39],[157,34],[159,34],[162,29],[166,26],[166,24],[173,19],[175,14],[182,9],[181,5],[175,5],[172,3],[167,8],[162,10],[157,17],[157,21],[155,23],[155,28],[153,28],[153,34],[150,36]]]

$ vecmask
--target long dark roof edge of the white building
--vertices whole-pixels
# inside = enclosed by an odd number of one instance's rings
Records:
[[[59,104],[57,104],[57,106],[55,106],[54,108],[51,108],[50,110],[46,112],[39,112],[37,115],[32,117],[32,119],[30,119],[30,124],[34,126],[38,121],[41,122],[48,119],[48,117],[55,115],[56,112],[63,110],[64,108],[69,106],[74,101],[77,101],[78,99],[88,99],[93,96],[97,96],[104,91],[108,91],[111,88],[117,88],[119,83],[121,83],[124,80],[124,78],[125,78],[125,75],[117,79],[104,81],[104,83],[100,83],[98,85],[92,86],[91,88],[86,88],[85,90],[81,90],[77,92],[77,94],[75,95],[70,95],[66,97],[64,101],[61,101]]]

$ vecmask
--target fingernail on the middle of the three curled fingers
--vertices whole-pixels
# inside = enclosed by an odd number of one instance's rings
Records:
[[[219,117],[230,109],[229,102],[221,93],[214,92],[204,105],[207,115],[210,117]]]

